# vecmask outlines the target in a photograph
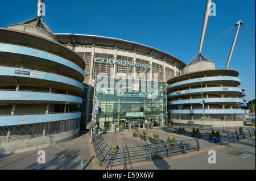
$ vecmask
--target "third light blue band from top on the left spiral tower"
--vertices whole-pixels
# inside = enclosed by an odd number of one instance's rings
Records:
[[[82,103],[82,98],[78,96],[53,94],[46,92],[29,92],[29,91],[1,91],[0,100],[46,100],[58,102]]]

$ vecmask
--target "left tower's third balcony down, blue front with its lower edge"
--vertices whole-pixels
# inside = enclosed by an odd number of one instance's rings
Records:
[[[22,103],[56,103],[63,104],[65,102],[71,104],[81,104],[82,98],[78,96],[54,94],[46,92],[32,92],[32,91],[10,91],[0,90],[0,105],[13,104],[17,101]]]

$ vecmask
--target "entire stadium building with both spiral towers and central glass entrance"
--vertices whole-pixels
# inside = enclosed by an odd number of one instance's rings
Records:
[[[242,125],[238,71],[215,69],[202,46],[187,65],[127,40],[53,33],[40,14],[0,28],[0,151],[72,139],[90,121],[100,132]]]

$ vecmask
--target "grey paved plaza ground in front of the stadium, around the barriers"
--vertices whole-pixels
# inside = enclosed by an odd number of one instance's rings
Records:
[[[139,129],[148,132],[148,136],[159,134],[159,138],[166,141],[168,137],[175,137],[176,140],[191,139],[191,128],[185,128],[186,136],[168,133],[165,128]],[[178,127],[175,128],[177,131]],[[229,145],[218,145],[209,142],[208,135],[210,131],[200,130],[203,134],[199,138],[200,151],[193,151],[187,154],[179,154],[170,158],[152,159],[152,161],[136,162],[127,165],[110,166],[110,170],[115,169],[254,169],[255,170],[255,136],[246,140],[236,141]],[[130,146],[141,146],[151,144],[150,141],[143,141],[141,138],[133,137],[133,131],[123,132],[102,132],[100,133],[106,143],[111,147],[116,145],[119,148]],[[0,157],[0,169],[81,169],[80,161],[84,159],[84,170],[102,169],[105,167],[98,166],[98,159],[94,153],[93,146],[89,144],[89,133],[81,132],[75,140],[61,142],[55,146],[44,148],[46,151],[46,163],[39,164],[38,150],[15,153]],[[216,151],[216,163],[208,163],[208,151]],[[105,164],[104,164],[105,166]]]

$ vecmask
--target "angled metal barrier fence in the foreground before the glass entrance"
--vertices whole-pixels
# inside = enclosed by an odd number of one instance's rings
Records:
[[[93,133],[92,140],[96,157],[99,159],[99,165],[102,166],[102,163],[106,163],[106,168],[133,162],[151,161],[158,157],[170,157],[171,155],[188,153],[189,151],[200,149],[197,138],[130,148],[126,147],[117,150],[111,150],[100,134]]]

